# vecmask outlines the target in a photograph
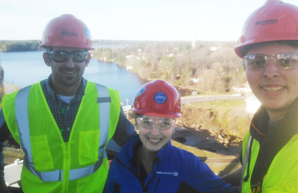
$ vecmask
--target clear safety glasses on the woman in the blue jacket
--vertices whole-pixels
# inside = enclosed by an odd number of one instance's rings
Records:
[[[160,130],[169,130],[170,128],[173,127],[173,124],[175,123],[175,119],[166,118],[166,119],[154,120],[151,118],[138,117],[137,123],[144,129],[153,129],[155,123],[157,123],[158,128]]]

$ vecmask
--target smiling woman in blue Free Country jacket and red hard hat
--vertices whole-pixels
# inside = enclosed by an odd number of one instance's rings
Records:
[[[237,192],[197,156],[172,146],[180,108],[177,90],[164,80],[139,90],[132,108],[139,135],[111,162],[105,192]]]

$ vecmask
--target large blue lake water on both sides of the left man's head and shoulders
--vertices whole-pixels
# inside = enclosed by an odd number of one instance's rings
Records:
[[[51,68],[44,63],[42,54],[36,52],[0,52],[0,64],[4,70],[4,82],[21,88],[46,79]],[[134,98],[142,85],[147,83],[137,74],[119,67],[116,63],[103,62],[92,58],[83,74],[87,80],[119,91],[123,106],[133,105]]]

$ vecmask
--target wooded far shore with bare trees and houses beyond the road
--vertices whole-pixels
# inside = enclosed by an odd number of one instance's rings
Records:
[[[94,57],[126,66],[145,80],[163,79],[199,93],[225,93],[246,81],[236,42],[139,41],[94,49]]]

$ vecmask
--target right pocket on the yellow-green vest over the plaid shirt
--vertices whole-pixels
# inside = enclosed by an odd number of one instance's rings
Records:
[[[81,131],[79,134],[78,159],[80,165],[98,161],[99,130]]]

